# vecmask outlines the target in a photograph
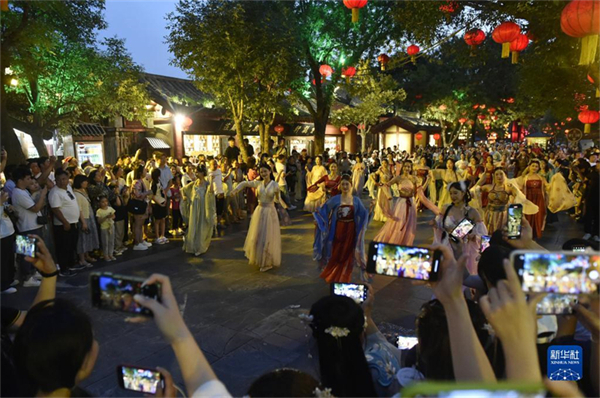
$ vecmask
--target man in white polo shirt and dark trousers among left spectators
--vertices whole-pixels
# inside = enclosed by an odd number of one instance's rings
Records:
[[[81,209],[73,189],[69,186],[69,176],[63,169],[56,170],[56,186],[50,190],[48,201],[54,214],[54,239],[56,256],[60,264],[61,276],[73,276],[74,271],[85,268],[75,266],[77,251],[78,227],[82,218]]]

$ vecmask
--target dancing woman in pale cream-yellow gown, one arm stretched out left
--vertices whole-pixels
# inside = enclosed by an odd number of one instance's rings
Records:
[[[244,188],[256,188],[258,207],[250,221],[244,253],[250,265],[257,265],[261,272],[265,272],[281,265],[281,232],[275,201],[284,209],[287,205],[279,196],[279,184],[273,180],[269,165],[261,164],[259,173],[260,180],[241,182],[230,195]]]

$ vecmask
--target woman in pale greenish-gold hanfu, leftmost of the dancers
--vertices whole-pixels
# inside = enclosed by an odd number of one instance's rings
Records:
[[[213,184],[206,180],[206,168],[196,168],[196,181],[181,190],[181,216],[188,228],[183,237],[183,250],[199,256],[206,253],[216,225],[217,205]]]

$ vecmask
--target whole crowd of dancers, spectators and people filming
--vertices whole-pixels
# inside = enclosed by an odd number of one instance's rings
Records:
[[[584,224],[582,239],[565,242],[563,249],[598,249],[597,148],[498,143],[312,157],[306,150],[288,153],[283,139],[268,153],[243,145],[245,160],[231,138],[219,156],[173,159],[157,152],[143,160],[138,151],[111,166],[80,165],[73,158],[6,165],[2,153],[2,291],[14,292],[17,279],[23,287],[39,288],[28,312],[2,309],[3,395],[84,393],[77,384],[101,354],[87,315],[55,297],[58,276],[178,235],[185,252],[200,256],[213,237],[244,218],[250,218],[245,256],[251,266],[269,271],[281,266],[280,226],[292,222],[288,211],[296,205],[313,213],[313,258],[328,283],[368,280],[369,225],[380,228],[375,241],[410,246],[418,213],[432,212],[426,228],[442,255],[438,279],[429,283],[435,298],[416,316],[418,344],[403,351],[373,321],[374,289],[369,287],[362,304],[324,297],[303,317],[312,330],[319,377],[274,370],[254,381],[249,396],[392,396],[428,381],[490,388],[513,381],[556,396],[600,394],[597,293],[579,296],[571,316],[538,319],[543,297],[527,300],[508,261],[516,249],[544,250],[536,240],[547,223],[558,222],[558,212]],[[507,207],[513,203],[522,205],[525,216],[520,237],[509,240]],[[451,239],[464,219],[473,228]],[[15,257],[16,234],[38,238],[35,258]],[[489,246],[482,251],[484,237]],[[152,275],[145,282],[157,283],[161,302],[139,295],[134,300],[152,311],[188,395],[230,396],[185,325],[169,278]],[[542,339],[548,331],[550,338]],[[546,350],[556,344],[584,350],[585,375],[577,384],[544,379]],[[164,396],[175,396],[172,377],[160,371]]]

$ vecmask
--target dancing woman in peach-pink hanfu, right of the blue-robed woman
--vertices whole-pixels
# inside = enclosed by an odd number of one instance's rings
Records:
[[[414,196],[417,190],[417,178],[413,176],[413,164],[410,160],[404,162],[401,174],[392,178],[386,185],[397,184],[400,197],[394,199],[390,209],[390,201],[383,199],[381,206],[387,221],[373,238],[376,242],[393,243],[395,245],[411,246],[417,230],[417,210]]]

